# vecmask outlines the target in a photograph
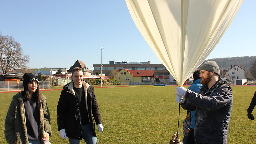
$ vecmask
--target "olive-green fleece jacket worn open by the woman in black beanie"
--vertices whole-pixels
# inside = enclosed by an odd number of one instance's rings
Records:
[[[52,134],[50,125],[50,113],[46,104],[46,98],[41,94],[42,100],[38,102],[40,119],[40,139],[43,137],[43,131]],[[5,123],[4,135],[9,144],[28,144],[25,109],[23,103],[24,96],[17,93],[13,96],[8,109]],[[41,144],[43,141],[41,140]]]

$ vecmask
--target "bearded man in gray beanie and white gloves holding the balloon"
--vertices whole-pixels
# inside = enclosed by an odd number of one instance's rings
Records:
[[[220,70],[215,61],[202,64],[199,72],[203,85],[199,92],[176,87],[176,102],[185,110],[196,110],[196,144],[227,144],[233,101],[231,84],[219,78]]]

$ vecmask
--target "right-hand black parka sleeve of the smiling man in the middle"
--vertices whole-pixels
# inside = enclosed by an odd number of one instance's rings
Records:
[[[99,104],[96,100],[95,94],[94,94],[94,88],[91,89],[91,95],[92,95],[92,115],[94,117],[94,120],[96,124],[102,123],[101,121],[101,115],[100,115],[100,110],[99,110]]]

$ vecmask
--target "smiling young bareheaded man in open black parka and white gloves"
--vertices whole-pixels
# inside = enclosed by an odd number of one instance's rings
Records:
[[[83,81],[81,68],[72,70],[72,81],[63,87],[57,105],[58,131],[61,138],[69,138],[70,144],[79,144],[82,138],[87,144],[97,144],[94,120],[98,131],[103,131],[94,88]]]

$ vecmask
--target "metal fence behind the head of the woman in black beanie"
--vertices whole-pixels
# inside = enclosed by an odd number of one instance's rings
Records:
[[[39,81],[40,89],[50,89],[49,81]],[[0,91],[22,91],[24,90],[23,81],[19,82],[8,82],[0,81]]]

